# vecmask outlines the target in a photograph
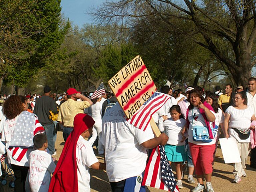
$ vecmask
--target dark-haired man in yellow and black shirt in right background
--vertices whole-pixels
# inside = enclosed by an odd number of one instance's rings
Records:
[[[225,86],[225,94],[219,96],[218,104],[225,114],[226,109],[231,105],[232,85],[227,84]]]

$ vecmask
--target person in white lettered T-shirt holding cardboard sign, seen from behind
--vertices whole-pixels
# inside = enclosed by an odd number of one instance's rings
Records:
[[[154,137],[148,124],[145,131],[127,122],[120,105],[106,111],[102,119],[102,143],[105,146],[106,170],[113,192],[143,192],[147,149],[165,145],[168,137]]]

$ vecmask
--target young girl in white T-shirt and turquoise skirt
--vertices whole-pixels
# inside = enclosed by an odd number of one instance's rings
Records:
[[[181,118],[180,106],[173,105],[169,113],[171,118],[164,121],[163,126],[166,135],[169,137],[167,144],[165,145],[165,153],[169,160],[169,163],[175,162],[177,173],[177,185],[179,189],[183,188],[181,181],[182,162],[187,160],[185,152],[185,137],[182,136],[182,129],[186,124],[186,120]]]

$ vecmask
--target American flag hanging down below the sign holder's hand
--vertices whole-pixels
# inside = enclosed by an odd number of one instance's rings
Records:
[[[161,145],[153,149],[146,165],[142,181],[142,186],[145,185],[165,191],[179,192],[164,147]]]

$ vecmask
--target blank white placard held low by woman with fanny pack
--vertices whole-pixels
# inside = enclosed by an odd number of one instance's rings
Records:
[[[219,141],[225,163],[241,162],[241,157],[234,138],[220,138]]]

